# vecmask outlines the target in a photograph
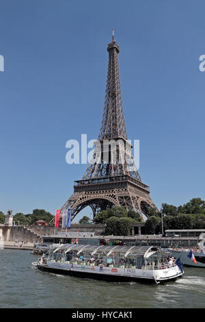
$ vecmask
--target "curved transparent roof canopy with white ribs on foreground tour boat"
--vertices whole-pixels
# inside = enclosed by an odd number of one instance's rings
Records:
[[[59,247],[52,247],[54,252],[61,251],[62,253],[68,253],[68,251],[77,251],[80,254],[81,251],[89,251],[92,255],[101,251],[105,251],[107,256],[111,253],[124,253],[124,257],[128,256],[129,253],[134,253],[136,256],[147,257],[148,253],[155,253],[159,251],[159,247],[155,246],[111,246],[111,245],[75,245],[75,244],[64,244]]]

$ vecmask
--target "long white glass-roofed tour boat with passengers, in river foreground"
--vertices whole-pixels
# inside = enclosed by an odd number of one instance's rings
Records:
[[[176,263],[165,264],[166,253],[153,246],[61,245],[40,258],[40,271],[93,278],[109,282],[174,281],[184,271]]]

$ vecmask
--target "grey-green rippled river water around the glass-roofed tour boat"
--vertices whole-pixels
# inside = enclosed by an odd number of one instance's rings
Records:
[[[0,250],[0,308],[204,308],[205,269],[184,268],[165,285],[113,284],[41,273],[39,256]]]

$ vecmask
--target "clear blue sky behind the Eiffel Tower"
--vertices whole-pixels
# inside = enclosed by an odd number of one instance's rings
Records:
[[[204,199],[204,12],[203,0],[1,0],[0,210],[54,214],[72,194],[86,165],[66,164],[66,141],[98,137],[111,28],[152,200]]]

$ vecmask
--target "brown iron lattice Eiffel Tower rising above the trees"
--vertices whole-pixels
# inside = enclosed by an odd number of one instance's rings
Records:
[[[62,206],[62,210],[72,209],[72,219],[83,208],[90,206],[96,212],[112,206],[122,206],[148,216],[149,208],[156,208],[150,198],[149,186],[141,177],[128,145],[118,65],[119,46],[114,39],[107,45],[109,62],[105,105],[98,136],[98,149],[94,151],[92,164],[88,164],[81,180],[74,182],[74,193]],[[115,149],[108,144],[112,140]],[[100,148],[99,148],[100,146]],[[126,149],[125,147],[128,147]],[[129,153],[127,153],[127,150]],[[101,162],[98,161],[100,155]],[[124,162],[122,162],[124,160]]]

